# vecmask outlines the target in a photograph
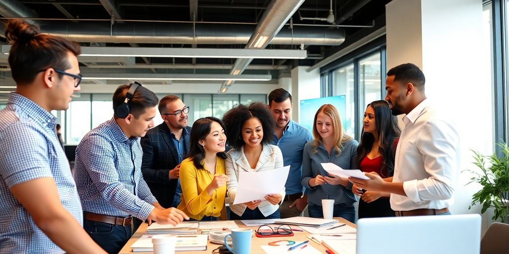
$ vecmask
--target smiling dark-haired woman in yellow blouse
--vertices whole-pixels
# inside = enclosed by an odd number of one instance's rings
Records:
[[[178,209],[194,220],[226,219],[224,124],[215,117],[196,120],[189,137],[188,157],[180,164],[181,202]]]

